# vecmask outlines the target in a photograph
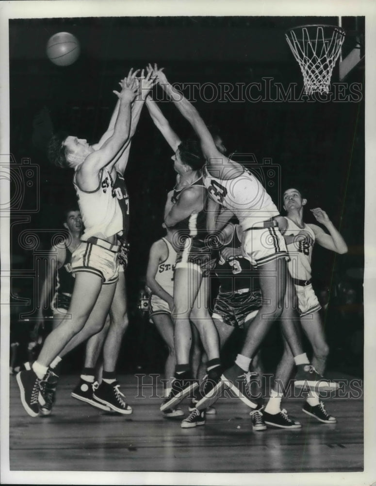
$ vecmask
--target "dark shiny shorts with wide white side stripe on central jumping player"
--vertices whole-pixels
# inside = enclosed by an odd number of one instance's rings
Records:
[[[178,268],[196,268],[203,277],[208,277],[219,258],[219,252],[211,248],[204,240],[187,238],[176,257],[175,270]]]

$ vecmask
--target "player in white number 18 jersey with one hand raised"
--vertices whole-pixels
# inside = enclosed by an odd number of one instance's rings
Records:
[[[283,208],[287,215],[278,217],[278,226],[285,238],[290,255],[289,271],[296,289],[300,323],[313,349],[312,364],[320,374],[323,374],[329,348],[319,312],[321,306],[311,284],[312,250],[313,245],[317,242],[328,250],[343,254],[347,252],[347,245],[331,223],[327,213],[321,208],[311,209],[311,212],[316,220],[326,227],[329,234],[320,226],[304,223],[303,211],[306,204],[307,199],[302,197],[297,189],[287,189],[283,193]],[[290,348],[284,343],[284,353],[276,372],[271,399],[262,412],[265,422],[269,425],[283,428],[294,427],[293,421],[286,420],[286,412],[280,410],[283,391],[286,390],[293,368],[294,360]],[[310,391],[307,401],[303,405],[303,412],[323,423],[336,422],[336,419],[327,413],[324,403],[314,390]]]

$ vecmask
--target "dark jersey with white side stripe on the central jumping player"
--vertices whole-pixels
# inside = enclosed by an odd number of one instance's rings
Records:
[[[204,189],[204,207],[200,212],[191,214],[190,216],[188,216],[188,218],[179,221],[179,223],[174,226],[174,229],[177,229],[179,231],[181,243],[184,243],[182,237],[205,240],[205,238],[208,236],[208,231],[206,229],[206,207],[208,202],[208,191],[204,186],[202,175],[189,186],[184,187],[180,190],[174,189],[174,193],[171,197],[171,202],[176,203],[179,200],[182,191],[192,186],[200,186]]]

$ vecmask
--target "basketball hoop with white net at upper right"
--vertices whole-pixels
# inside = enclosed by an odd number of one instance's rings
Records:
[[[303,25],[286,32],[287,43],[299,63],[308,95],[329,92],[344,35],[342,27],[331,25]]]

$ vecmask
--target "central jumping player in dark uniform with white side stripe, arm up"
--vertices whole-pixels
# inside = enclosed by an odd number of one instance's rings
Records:
[[[207,244],[206,204],[208,193],[202,182],[202,155],[194,140],[181,142],[171,129],[157,104],[147,98],[151,117],[174,151],[172,159],[178,173],[177,184],[168,194],[165,208],[166,226],[176,230],[174,243],[178,256],[174,279],[174,342],[177,357],[172,390],[161,411],[173,408],[193,391],[198,383],[192,380],[190,348],[192,343],[189,319],[195,322],[208,355],[208,376],[220,375],[219,341],[208,310],[209,271],[216,256]]]

